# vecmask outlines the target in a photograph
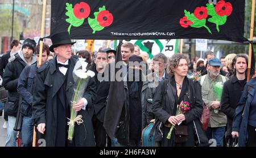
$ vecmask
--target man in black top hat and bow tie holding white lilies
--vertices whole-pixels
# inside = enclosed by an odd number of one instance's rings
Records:
[[[57,56],[43,64],[35,77],[32,113],[37,129],[43,134],[46,146],[94,146],[92,101],[96,93],[95,81],[89,78],[84,98],[72,107],[82,115],[84,122],[75,123],[73,140],[69,142],[67,118],[70,118],[75,84],[73,69],[78,60],[78,57],[71,56],[71,47],[76,42],[71,41],[68,32],[52,35],[51,40],[49,50]]]

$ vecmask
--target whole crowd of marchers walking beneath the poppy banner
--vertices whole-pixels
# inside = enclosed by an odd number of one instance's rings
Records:
[[[247,55],[218,59],[208,51],[205,59],[189,60],[180,53],[170,58],[157,53],[147,63],[148,54],[132,43],[123,43],[117,51],[106,48],[92,55],[81,50],[74,55],[75,42],[68,32],[51,40],[50,47],[43,44],[41,65],[39,45],[32,39],[22,44],[13,40],[0,59],[0,83],[8,91],[3,109],[6,147],[17,146],[17,131],[23,147],[32,146],[33,139],[54,147],[141,147],[147,141],[155,147],[214,146],[209,140],[223,147],[237,144],[237,138],[241,147],[256,146],[256,79],[246,83]],[[72,104],[73,69],[79,58],[96,75]],[[119,76],[112,69],[118,61]],[[120,92],[113,90],[113,82],[123,82]],[[222,85],[220,96],[217,84]],[[109,100],[116,92],[121,105]],[[207,129],[200,121],[204,106],[209,109]],[[75,123],[72,141],[71,109],[83,120]]]

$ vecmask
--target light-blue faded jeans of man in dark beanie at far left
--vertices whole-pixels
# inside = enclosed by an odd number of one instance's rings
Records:
[[[16,135],[18,132],[13,130],[15,122],[15,117],[8,116],[7,137],[5,142],[6,147],[16,147]]]

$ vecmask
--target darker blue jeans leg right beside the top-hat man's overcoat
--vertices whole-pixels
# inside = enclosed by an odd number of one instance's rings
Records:
[[[32,147],[33,137],[33,119],[32,117],[23,117],[22,121],[22,147]]]

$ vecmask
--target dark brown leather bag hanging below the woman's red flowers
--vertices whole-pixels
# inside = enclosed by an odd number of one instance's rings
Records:
[[[188,140],[188,126],[175,126],[175,143],[184,143]]]

